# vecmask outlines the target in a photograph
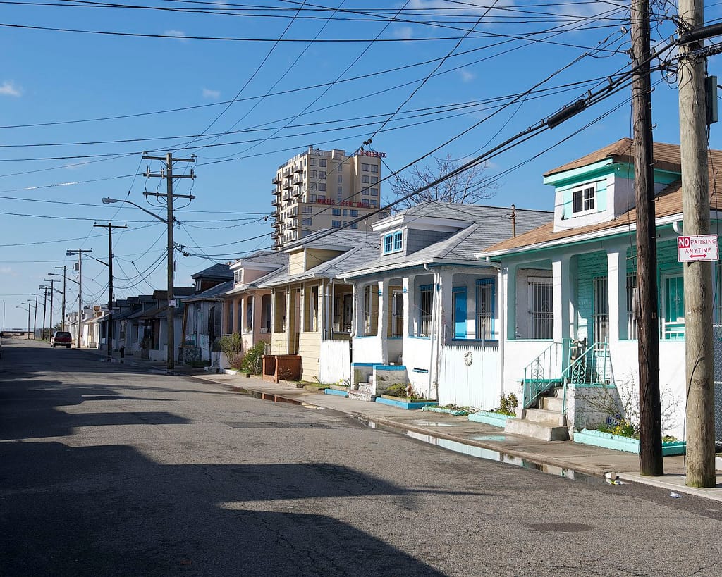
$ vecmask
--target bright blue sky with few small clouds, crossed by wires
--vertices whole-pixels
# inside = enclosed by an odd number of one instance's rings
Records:
[[[175,240],[190,253],[177,255],[176,285],[186,285],[214,262],[271,245],[271,177],[309,144],[351,152],[373,137],[370,148],[388,154],[383,176],[430,163],[430,153],[465,162],[629,69],[627,3],[48,4],[6,4],[0,17],[6,326],[27,325],[17,307],[34,304],[47,273],[61,272],[54,267],[76,262],[67,248],[107,260],[107,232],[94,221],[129,226],[113,235],[116,297],[165,289],[165,225],[100,202],[126,198],[164,215],[143,195],[165,191],[143,176],[160,169],[143,151],[196,154],[196,180],[175,188],[196,196],[176,213]],[[708,23],[720,17],[717,2],[706,10]],[[677,9],[660,2],[655,12],[653,41],[664,43]],[[678,143],[675,79],[656,73],[653,83],[655,138]],[[629,96],[622,89],[490,160],[485,176],[497,192],[485,203],[551,209],[542,173],[632,136]],[[710,145],[720,148],[717,132]],[[382,191],[391,198],[388,185]],[[107,301],[105,266],[85,259],[83,283],[85,304]],[[59,310],[58,298],[55,319]]]

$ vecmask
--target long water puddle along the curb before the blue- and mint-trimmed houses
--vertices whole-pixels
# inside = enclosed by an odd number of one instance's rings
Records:
[[[512,464],[516,467],[522,467],[523,469],[529,469],[534,471],[540,471],[547,473],[548,475],[555,475],[557,477],[565,477],[566,479],[581,481],[590,485],[604,485],[606,480],[602,477],[596,477],[594,475],[587,475],[586,473],[580,473],[564,467],[556,467],[550,464],[536,463],[529,461],[529,459],[523,459],[522,457],[515,457],[514,455],[495,451],[494,449],[484,449],[484,447],[467,445],[459,441],[451,441],[450,439],[439,439],[437,436],[417,433],[415,431],[406,431],[403,428],[395,428],[387,425],[380,425],[370,420],[357,417],[365,426],[369,428],[377,428],[381,431],[391,431],[394,433],[401,433],[417,441],[422,441],[430,445],[436,445],[442,449],[453,451],[455,453],[469,455],[469,457],[476,457],[477,459],[485,459],[487,461],[494,461],[497,463]],[[435,423],[430,423],[435,424]],[[480,435],[474,436],[470,439],[476,439],[479,441],[505,441],[503,435]]]

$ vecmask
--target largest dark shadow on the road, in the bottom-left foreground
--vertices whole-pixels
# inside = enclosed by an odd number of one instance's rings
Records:
[[[364,517],[359,497],[413,497],[336,464],[168,465],[129,446],[57,442],[1,443],[0,462],[3,575],[442,575],[310,512],[349,498]]]

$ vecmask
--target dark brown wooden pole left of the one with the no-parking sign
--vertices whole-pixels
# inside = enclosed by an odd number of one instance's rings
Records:
[[[639,292],[640,473],[664,475],[659,400],[657,247],[654,210],[654,151],[650,80],[649,0],[632,0],[632,128],[637,203],[637,286]]]

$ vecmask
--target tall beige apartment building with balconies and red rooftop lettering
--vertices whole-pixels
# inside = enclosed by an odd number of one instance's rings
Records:
[[[357,219],[380,206],[381,157],[385,152],[308,150],[278,167],[273,182],[274,248]],[[352,229],[370,228],[379,213]]]

